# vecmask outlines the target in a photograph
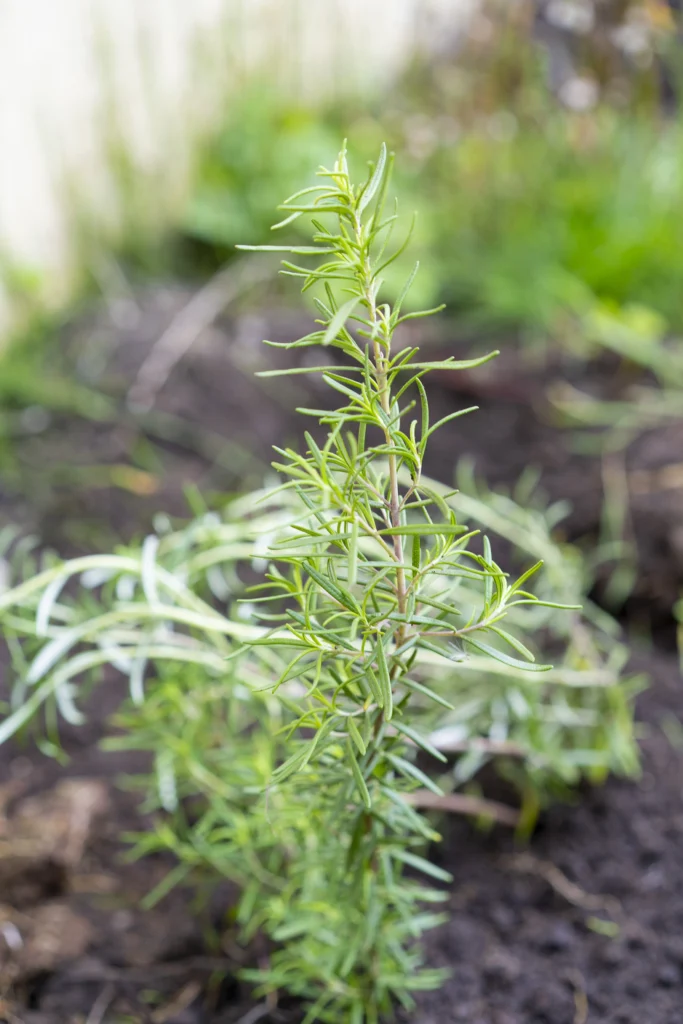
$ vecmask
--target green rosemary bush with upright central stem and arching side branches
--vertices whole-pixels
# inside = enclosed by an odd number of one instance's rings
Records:
[[[400,347],[400,325],[435,310],[404,309],[417,266],[393,306],[381,298],[408,245],[389,248],[390,169],[383,147],[354,185],[342,151],[276,225],[309,217],[311,244],[265,247],[314,261],[284,263],[319,314],[287,347],[339,362],[267,373],[323,374],[341,407],[302,412],[325,438],[276,449],[280,486],[222,516],[178,530],[161,517],[139,548],[29,564],[0,594],[17,680],[0,738],[41,710],[51,728],[80,721],[77,681],[122,672],[130,701],[111,745],[154,754],[147,805],[166,812],[138,849],[178,858],[151,898],[196,868],[238,882],[243,936],[272,941],[247,977],[332,1024],[372,1024],[441,983],[418,940],[441,920],[434,883],[449,876],[426,856],[439,837],[421,810],[500,814],[454,792],[492,757],[519,787],[522,828],[583,773],[637,768],[623,651],[607,617],[577,613],[582,570],[550,534],[561,510],[422,475],[430,435],[469,412],[432,423],[423,378],[483,359]],[[511,579],[461,519],[530,566]],[[543,644],[557,668],[537,662]]]

